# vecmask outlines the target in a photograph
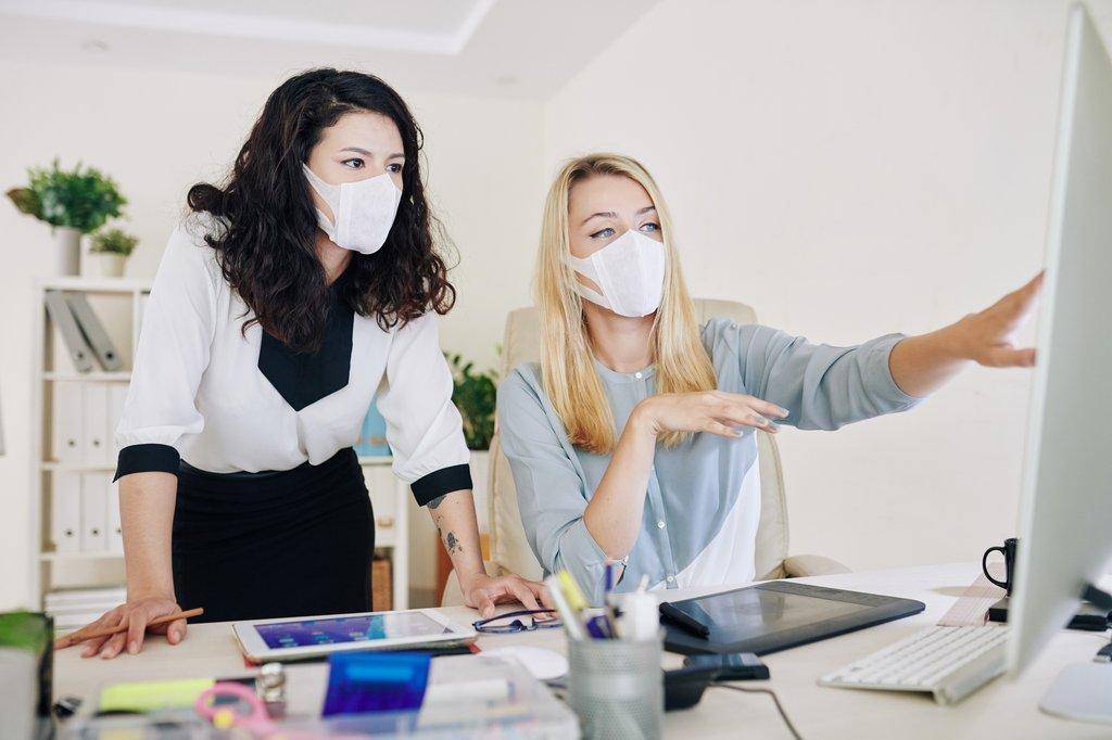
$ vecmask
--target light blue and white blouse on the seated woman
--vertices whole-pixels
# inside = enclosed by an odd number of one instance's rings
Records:
[[[903,334],[831,347],[767,327],[712,319],[702,338],[719,390],[772,401],[788,411],[782,423],[798,429],[833,430],[910,409],[920,400],[900,390],[888,369],[888,354]],[[633,408],[655,392],[655,369],[622,373],[597,361],[595,367],[617,429],[624,429]],[[588,598],[599,602],[606,556],[587,531],[583,512],[610,457],[568,442],[537,363],[518,366],[502,382],[498,420],[533,552],[546,572],[566,568]],[[672,449],[657,447],[641,533],[616,590],[635,589],[643,576],[654,588],[755,578],[757,446],[751,428],[742,431],[737,439],[699,433]]]

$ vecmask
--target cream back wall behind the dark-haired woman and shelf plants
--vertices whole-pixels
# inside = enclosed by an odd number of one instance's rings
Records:
[[[186,189],[218,178],[266,96],[284,79],[185,72],[0,63],[0,189],[24,182],[29,164],[60,156],[117,178],[130,200],[127,228],[142,240],[130,276],[153,276],[183,209]],[[445,319],[445,349],[483,364],[508,309],[528,301],[536,217],[542,198],[540,106],[401,91],[427,136],[430,192],[461,258],[453,271],[457,308]],[[497,192],[497,197],[493,193]],[[0,457],[0,609],[26,602],[31,567],[28,497],[31,463],[30,348],[33,276],[49,269],[48,229],[0,202],[0,392],[8,454]],[[525,247],[528,246],[528,247]],[[417,519],[414,581],[431,586],[435,544]]]

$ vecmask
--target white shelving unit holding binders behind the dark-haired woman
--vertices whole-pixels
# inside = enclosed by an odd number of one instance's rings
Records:
[[[34,347],[31,352],[32,388],[31,402],[31,562],[30,593],[33,602],[43,606],[44,597],[59,584],[59,576],[68,569],[77,569],[68,574],[66,588],[90,588],[120,586],[122,579],[122,556],[105,551],[54,550],[49,522],[54,481],[63,473],[110,473],[116,469],[110,463],[62,462],[52,457],[53,390],[59,383],[127,383],[131,379],[129,370],[115,372],[76,372],[69,361],[64,343],[52,327],[44,306],[48,290],[82,292],[91,300],[111,299],[116,311],[103,314],[101,321],[118,342],[117,350],[125,358],[125,367],[130,367],[135,347],[138,344],[139,327],[146,297],[150,293],[150,281],[122,278],[53,278],[36,283],[34,300]],[[130,308],[126,302],[130,301]],[[96,307],[95,307],[96,308]],[[126,322],[126,326],[125,326]],[[391,561],[391,590],[394,609],[406,609],[409,602],[409,529],[408,487],[394,478],[389,457],[360,458],[359,464],[371,491],[375,509],[375,549]],[[87,573],[92,572],[90,577]],[[113,578],[115,573],[115,578]]]

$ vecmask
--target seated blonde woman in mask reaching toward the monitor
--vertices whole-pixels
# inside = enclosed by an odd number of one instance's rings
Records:
[[[761,490],[753,430],[834,430],[914,407],[972,362],[1029,367],[1011,343],[1040,278],[919,337],[857,347],[726,319],[695,322],[667,209],[627,157],[567,162],[537,263],[540,363],[498,390],[522,521],[546,571],[597,602],[618,590],[753,580]]]

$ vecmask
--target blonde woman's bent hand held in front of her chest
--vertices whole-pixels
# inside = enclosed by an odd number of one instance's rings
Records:
[[[787,410],[744,393],[713,390],[699,393],[662,393],[637,404],[631,422],[654,437],[667,432],[711,432],[739,437],[737,427],[753,427],[775,434],[776,421]]]

